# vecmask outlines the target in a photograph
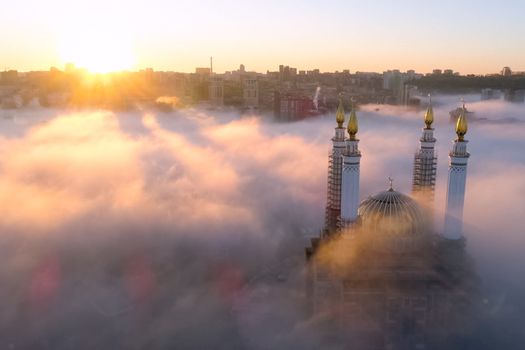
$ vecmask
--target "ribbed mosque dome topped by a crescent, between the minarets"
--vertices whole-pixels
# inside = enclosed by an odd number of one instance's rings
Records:
[[[427,218],[421,206],[392,187],[364,200],[358,209],[361,226],[388,250],[417,248],[426,237]]]

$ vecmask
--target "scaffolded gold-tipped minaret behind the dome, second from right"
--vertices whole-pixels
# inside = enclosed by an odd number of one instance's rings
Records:
[[[425,113],[425,127],[419,139],[419,149],[414,156],[414,172],[412,178],[412,193],[425,204],[432,206],[434,187],[436,185],[437,154],[434,149],[434,111],[432,98],[429,96],[428,108]]]

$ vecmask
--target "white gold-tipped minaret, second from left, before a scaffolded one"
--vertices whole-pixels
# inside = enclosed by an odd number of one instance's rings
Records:
[[[359,208],[359,164],[361,152],[358,148],[359,140],[357,134],[357,115],[352,104],[350,119],[348,120],[348,139],[346,149],[343,153],[343,183],[341,198],[341,226],[345,227],[357,219]]]

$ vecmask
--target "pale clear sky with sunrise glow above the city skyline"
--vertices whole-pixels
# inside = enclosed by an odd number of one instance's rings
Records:
[[[519,0],[6,0],[0,67],[525,70]]]

